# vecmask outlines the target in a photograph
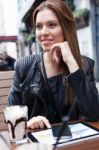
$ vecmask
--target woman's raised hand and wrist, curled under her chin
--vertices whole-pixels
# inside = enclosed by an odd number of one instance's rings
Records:
[[[71,52],[67,41],[54,44],[51,48],[50,53],[52,53],[53,60],[55,60],[57,64],[59,64],[61,62],[61,59],[63,59],[64,63],[68,66],[71,73],[79,69],[79,66]]]

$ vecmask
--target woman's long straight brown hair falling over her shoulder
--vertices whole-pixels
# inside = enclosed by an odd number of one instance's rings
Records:
[[[62,31],[63,31],[64,39],[65,41],[68,41],[68,44],[71,48],[71,52],[75,60],[77,61],[79,67],[82,68],[82,59],[80,55],[77,34],[76,34],[75,20],[74,20],[72,11],[62,0],[54,0],[54,1],[46,0],[45,2],[42,2],[35,9],[33,13],[33,26],[34,27],[36,24],[36,17],[37,17],[38,12],[43,10],[44,8],[48,8],[56,14],[60,22]],[[66,72],[69,72],[68,68]],[[68,93],[66,93],[66,97],[68,97],[68,99],[66,100],[66,103],[72,103],[74,94],[70,85],[68,86],[67,90],[68,90]]]

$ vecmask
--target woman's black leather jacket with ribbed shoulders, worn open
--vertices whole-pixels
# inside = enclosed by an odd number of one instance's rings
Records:
[[[79,69],[68,76],[68,82],[71,84],[76,97],[71,118],[83,117],[95,121],[99,118],[99,98],[93,74],[94,61],[88,57],[83,57],[83,61],[84,70]],[[52,116],[57,119],[51,120],[48,116],[49,96],[41,71],[40,57],[21,58],[16,62],[15,69],[13,85],[8,96],[9,105],[27,105],[28,119],[43,115],[51,123],[61,121],[53,106]]]

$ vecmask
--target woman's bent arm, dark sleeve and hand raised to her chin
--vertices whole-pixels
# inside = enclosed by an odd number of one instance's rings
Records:
[[[64,63],[68,66],[70,71],[68,80],[77,98],[80,113],[89,120],[98,120],[99,96],[95,87],[94,62],[88,57],[84,57],[85,72],[81,70],[66,41],[54,44],[51,52],[57,64],[60,63],[60,56],[62,56]]]

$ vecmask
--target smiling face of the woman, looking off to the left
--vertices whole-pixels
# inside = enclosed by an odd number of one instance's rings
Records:
[[[55,13],[48,8],[37,14],[36,39],[44,51],[50,51],[53,44],[64,41],[60,23]]]

